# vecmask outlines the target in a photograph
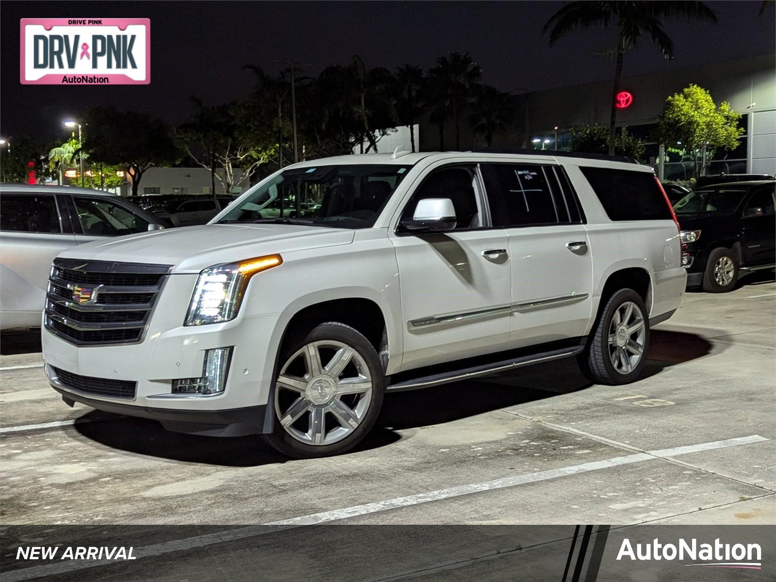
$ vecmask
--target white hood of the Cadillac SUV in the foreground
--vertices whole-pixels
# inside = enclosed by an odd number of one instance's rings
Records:
[[[95,241],[69,248],[61,256],[93,261],[175,265],[174,273],[275,253],[350,244],[348,229],[296,224],[203,224]]]

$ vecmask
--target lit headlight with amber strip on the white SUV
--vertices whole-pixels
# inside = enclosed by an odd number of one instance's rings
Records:
[[[199,273],[185,325],[218,324],[234,319],[251,277],[282,262],[280,255],[267,255],[206,268]]]

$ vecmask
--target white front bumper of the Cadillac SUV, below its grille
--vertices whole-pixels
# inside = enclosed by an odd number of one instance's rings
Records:
[[[63,393],[65,400],[104,411],[156,418],[172,430],[181,430],[175,428],[179,423],[180,427],[192,424],[194,430],[185,431],[199,434],[214,434],[221,428],[227,435],[248,434],[249,428],[251,432],[270,431],[272,414],[265,411],[277,346],[291,316],[264,314],[185,327],[182,323],[195,281],[196,275],[169,277],[139,343],[77,346],[44,327],[43,359],[52,386]],[[171,393],[174,379],[202,375],[205,353],[215,348],[232,348],[226,390],[212,395]],[[96,380],[132,382],[135,390],[132,397],[83,392],[57,381],[51,367]]]

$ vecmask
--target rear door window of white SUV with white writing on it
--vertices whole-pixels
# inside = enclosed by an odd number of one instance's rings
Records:
[[[569,222],[553,168],[532,164],[483,164],[483,182],[496,227]]]

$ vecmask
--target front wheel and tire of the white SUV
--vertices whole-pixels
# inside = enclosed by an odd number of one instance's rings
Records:
[[[383,366],[359,331],[329,321],[284,342],[271,399],[275,424],[264,435],[269,445],[295,459],[339,455],[377,421]]]

